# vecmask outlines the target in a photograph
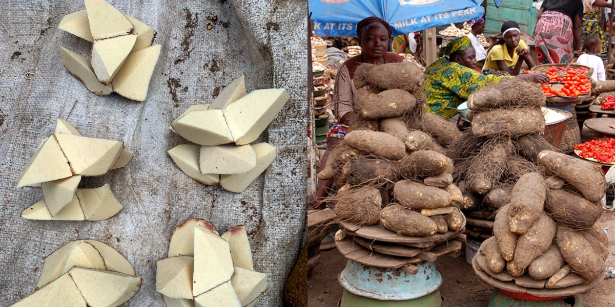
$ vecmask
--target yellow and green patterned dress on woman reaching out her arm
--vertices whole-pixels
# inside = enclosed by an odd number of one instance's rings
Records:
[[[448,58],[440,58],[425,70],[423,90],[427,95],[427,112],[450,118],[470,94],[507,76],[485,76]]]

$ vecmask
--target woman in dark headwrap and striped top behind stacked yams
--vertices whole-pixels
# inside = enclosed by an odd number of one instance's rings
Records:
[[[320,161],[319,171],[325,167],[329,150],[335,148],[339,141],[349,132],[349,123],[359,114],[357,89],[354,87],[354,72],[360,64],[400,63],[403,56],[387,52],[392,28],[385,20],[368,17],[357,23],[357,35],[362,53],[349,58],[338,71],[333,91],[333,109],[339,122],[335,123],[327,136],[327,152]],[[309,209],[324,209],[323,200],[329,194],[332,180],[319,180],[316,195],[308,206]]]

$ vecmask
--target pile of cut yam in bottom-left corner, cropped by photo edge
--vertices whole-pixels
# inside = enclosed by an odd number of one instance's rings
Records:
[[[36,289],[14,307],[115,307],[141,289],[124,256],[92,239],[71,241],[47,258]]]

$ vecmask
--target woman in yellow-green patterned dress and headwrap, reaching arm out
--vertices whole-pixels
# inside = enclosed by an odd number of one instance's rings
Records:
[[[451,118],[459,113],[457,107],[470,94],[491,82],[499,82],[510,76],[485,76],[474,70],[476,53],[467,36],[451,41],[440,50],[439,60],[425,69],[423,90],[427,95],[427,112]],[[515,78],[547,83],[546,74],[522,74]]]

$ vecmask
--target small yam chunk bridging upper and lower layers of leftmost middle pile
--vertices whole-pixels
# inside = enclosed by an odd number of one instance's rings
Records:
[[[42,198],[51,216],[56,216],[66,204],[73,201],[79,182],[81,175],[41,183]]]

